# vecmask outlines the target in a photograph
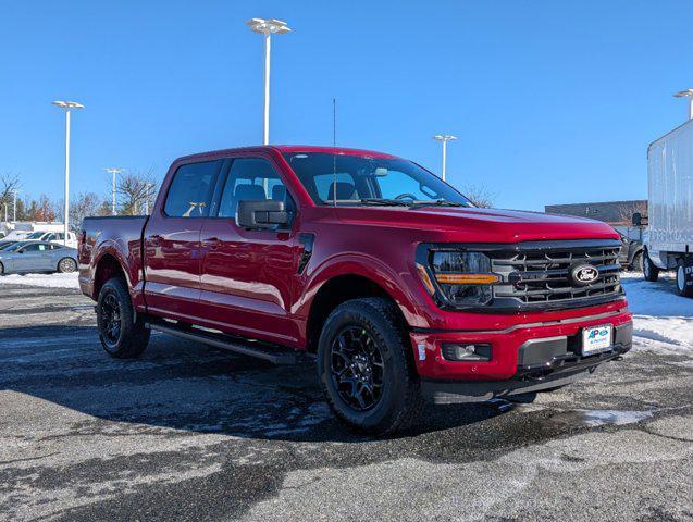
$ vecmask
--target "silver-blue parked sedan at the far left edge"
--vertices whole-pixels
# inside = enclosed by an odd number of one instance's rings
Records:
[[[0,250],[0,274],[75,272],[77,250],[48,241],[17,241]]]

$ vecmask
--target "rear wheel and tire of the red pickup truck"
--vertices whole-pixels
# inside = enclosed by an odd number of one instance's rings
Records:
[[[125,281],[109,279],[96,307],[99,339],[107,353],[115,359],[139,357],[149,344],[150,331],[135,313]]]

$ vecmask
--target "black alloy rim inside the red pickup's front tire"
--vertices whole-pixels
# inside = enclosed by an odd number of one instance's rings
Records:
[[[368,331],[361,326],[342,328],[330,356],[332,378],[342,400],[357,411],[375,407],[383,396],[385,365]]]

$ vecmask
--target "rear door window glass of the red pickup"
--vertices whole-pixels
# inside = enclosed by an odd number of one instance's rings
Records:
[[[173,175],[163,211],[171,217],[205,217],[222,161],[182,165]]]

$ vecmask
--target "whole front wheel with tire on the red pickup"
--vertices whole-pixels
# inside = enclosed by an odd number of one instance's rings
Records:
[[[387,299],[354,299],[335,308],[320,334],[317,363],[330,408],[357,432],[383,436],[406,430],[423,406],[405,325]],[[350,396],[359,389],[354,395],[360,400]]]

